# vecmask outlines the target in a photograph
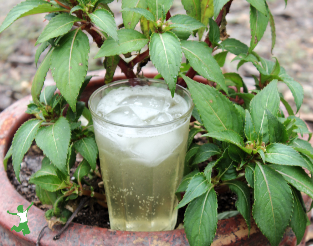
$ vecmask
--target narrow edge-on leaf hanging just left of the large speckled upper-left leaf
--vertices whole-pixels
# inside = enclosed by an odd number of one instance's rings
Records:
[[[31,88],[32,98],[35,103],[39,102],[39,95],[40,95],[42,87],[44,86],[44,80],[46,78],[47,72],[49,71],[50,59],[51,59],[53,50],[54,50],[54,47],[49,50],[49,52],[44,57],[44,60],[40,63],[35,73],[33,83],[32,83],[32,88]]]

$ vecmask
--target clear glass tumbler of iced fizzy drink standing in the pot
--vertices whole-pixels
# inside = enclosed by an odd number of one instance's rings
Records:
[[[88,104],[99,149],[110,227],[127,231],[172,230],[177,221],[175,191],[183,175],[189,121],[194,105],[190,93],[176,85],[174,98],[180,96],[186,107],[185,112],[176,115],[174,120],[162,123],[164,117],[159,112],[158,124],[133,125],[138,123],[134,118],[121,124],[123,117],[116,123],[114,113],[106,117],[97,112],[102,98],[112,95],[115,90],[133,86],[148,87],[149,90],[163,88],[166,96],[170,95],[167,84],[162,80],[131,79],[102,86],[91,95]],[[151,99],[150,93],[142,97],[148,109],[144,107],[137,113],[150,117],[157,112],[153,110],[165,107],[160,96]],[[119,96],[116,98],[122,101],[119,103],[123,107],[131,104],[136,109],[138,106],[137,96],[130,95],[123,100]],[[153,100],[156,102],[151,103]]]

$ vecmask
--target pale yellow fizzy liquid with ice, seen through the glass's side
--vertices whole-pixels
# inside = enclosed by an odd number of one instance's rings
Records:
[[[185,118],[158,127],[155,134],[134,134],[136,129],[120,133],[94,120],[111,229],[174,229],[175,191],[183,175],[188,128]]]

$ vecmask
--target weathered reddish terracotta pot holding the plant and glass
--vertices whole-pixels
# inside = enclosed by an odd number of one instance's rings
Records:
[[[154,75],[146,74],[147,77]],[[115,80],[124,78],[124,76],[116,76]],[[82,100],[87,101],[91,93],[101,85],[103,85],[103,78],[93,78],[82,95]],[[40,230],[46,225],[44,212],[33,206],[28,212],[28,226],[31,233],[23,236],[21,232],[10,231],[13,225],[18,224],[19,218],[6,212],[7,210],[16,211],[18,205],[29,206],[29,202],[11,185],[3,168],[3,158],[10,147],[14,133],[23,122],[30,118],[30,115],[24,113],[29,100],[31,100],[30,96],[25,97],[0,113],[0,245],[36,245]],[[307,205],[310,205],[308,196],[305,195],[304,200]],[[40,240],[40,245],[189,245],[183,229],[162,232],[126,232],[71,223],[59,240],[54,241],[52,238],[59,232],[60,228],[61,226],[57,226],[54,232],[46,229]],[[246,222],[241,215],[238,215],[218,221],[217,233],[212,245],[265,246],[270,244],[256,227],[254,221],[248,238]],[[286,230],[280,245],[296,245],[295,235],[290,228]],[[304,241],[300,245],[304,245]]]

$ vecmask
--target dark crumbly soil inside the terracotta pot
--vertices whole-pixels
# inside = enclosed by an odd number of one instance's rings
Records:
[[[21,194],[27,201],[34,202],[34,204],[37,207],[46,211],[49,208],[51,208],[51,205],[41,204],[38,197],[36,196],[35,185],[28,183],[28,179],[30,175],[32,175],[33,173],[35,173],[37,170],[40,169],[41,160],[43,159],[43,157],[44,156],[43,156],[42,151],[36,145],[32,145],[31,148],[28,150],[28,153],[25,155],[23,162],[21,163],[21,171],[20,171],[21,183],[18,182],[15,176],[11,160],[8,161],[7,175],[8,175],[10,182],[12,183],[12,185],[15,187],[15,189],[18,191],[19,194]],[[79,161],[79,157],[78,157],[78,161]],[[78,161],[76,164],[79,163]],[[100,179],[95,180],[95,182],[97,183],[99,183],[100,181],[101,181]],[[100,185],[98,187],[99,187],[99,190],[97,192],[101,192],[101,191],[104,192],[103,185],[102,186]],[[229,210],[236,210],[235,208],[236,200],[237,200],[237,196],[233,194],[231,191],[226,191],[222,194],[219,194],[218,195],[218,213],[229,211]],[[187,206],[178,210],[178,218],[177,218],[177,224],[175,228],[182,228],[186,207]],[[80,223],[83,225],[89,225],[89,226],[97,226],[101,228],[110,228],[108,209],[99,205],[92,198],[90,198],[88,204],[84,208],[82,208],[80,212],[78,212],[73,222]]]

